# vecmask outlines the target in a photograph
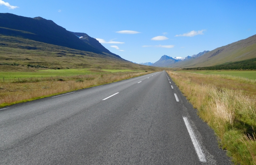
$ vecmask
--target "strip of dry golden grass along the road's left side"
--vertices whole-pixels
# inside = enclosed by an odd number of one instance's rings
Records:
[[[90,86],[111,83],[150,72],[109,73],[70,77],[24,78],[0,82],[0,107]]]

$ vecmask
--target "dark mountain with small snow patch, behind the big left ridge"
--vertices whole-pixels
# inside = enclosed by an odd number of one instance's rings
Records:
[[[95,39],[93,37],[90,37],[86,33],[77,33],[77,32],[70,32],[70,33],[79,37],[83,42],[85,42],[86,44],[89,44],[90,46],[100,50],[101,52],[109,53],[109,54],[112,54],[112,55],[114,55],[118,58],[121,58],[119,55],[116,55],[116,54],[110,52],[108,49],[106,49],[104,46],[102,46],[101,43],[99,43],[99,41],[97,39]]]

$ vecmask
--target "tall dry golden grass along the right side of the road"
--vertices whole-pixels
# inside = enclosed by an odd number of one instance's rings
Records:
[[[256,164],[256,83],[220,75],[167,71],[235,164]]]

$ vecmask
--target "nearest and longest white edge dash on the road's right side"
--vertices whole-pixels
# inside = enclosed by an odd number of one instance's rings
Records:
[[[188,131],[189,136],[190,136],[190,138],[191,138],[191,140],[192,140],[192,143],[193,143],[194,148],[195,148],[195,150],[196,150],[196,152],[197,152],[197,156],[198,156],[200,162],[206,162],[205,156],[204,156],[204,154],[203,154],[203,152],[202,152],[202,149],[201,149],[201,147],[200,147],[200,145],[199,145],[199,143],[198,143],[198,141],[197,141],[197,139],[196,139],[196,136],[195,136],[195,134],[194,134],[194,132],[193,132],[191,126],[189,125],[189,122],[188,122],[188,120],[187,120],[187,117],[183,117],[183,120],[184,120],[184,122],[185,122],[185,125],[186,125],[186,127],[187,127],[187,131]]]

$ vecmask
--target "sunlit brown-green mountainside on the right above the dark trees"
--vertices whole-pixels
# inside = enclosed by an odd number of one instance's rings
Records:
[[[194,57],[194,56],[193,56]],[[172,64],[172,67],[196,68],[242,61],[256,57],[256,35],[216,48],[196,58]]]

